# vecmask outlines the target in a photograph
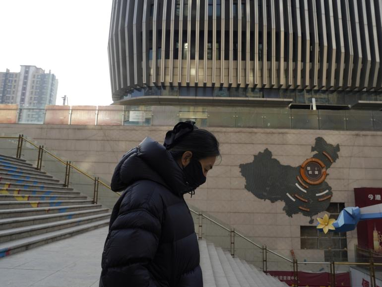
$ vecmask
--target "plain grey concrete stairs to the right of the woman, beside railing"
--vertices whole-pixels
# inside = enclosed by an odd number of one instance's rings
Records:
[[[212,243],[199,240],[200,267],[206,287],[285,287],[286,283],[266,275],[246,261]]]

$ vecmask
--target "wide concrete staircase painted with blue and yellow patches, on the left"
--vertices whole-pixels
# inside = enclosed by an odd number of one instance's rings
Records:
[[[108,225],[110,215],[25,160],[0,154],[0,258]]]

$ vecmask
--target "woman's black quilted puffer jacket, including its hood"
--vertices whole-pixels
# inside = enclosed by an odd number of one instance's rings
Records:
[[[183,195],[192,188],[169,151],[150,138],[117,165],[100,287],[201,287],[199,246]]]

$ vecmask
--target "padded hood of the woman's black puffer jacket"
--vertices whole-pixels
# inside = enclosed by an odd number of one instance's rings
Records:
[[[145,138],[129,150],[116,166],[111,182],[113,191],[123,191],[138,180],[152,180],[177,195],[192,191],[183,170],[171,153],[158,142]]]

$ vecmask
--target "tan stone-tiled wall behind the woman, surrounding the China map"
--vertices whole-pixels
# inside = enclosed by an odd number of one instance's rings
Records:
[[[165,132],[169,129],[170,127],[1,124],[0,135],[24,134],[63,159],[71,160],[80,168],[110,182],[116,163],[128,149],[139,144],[146,136],[162,143]],[[222,160],[209,172],[207,182],[196,190],[192,198],[186,195],[186,200],[191,206],[251,236],[258,244],[266,244],[268,248],[289,258],[290,250],[293,249],[301,261],[324,260],[321,250],[300,250],[300,226],[311,225],[310,218],[301,214],[288,217],[282,210],[283,202],[270,203],[268,200],[257,199],[245,189],[245,178],[240,173],[240,164],[252,162],[254,154],[268,148],[273,153],[273,158],[278,159],[281,164],[299,166],[313,155],[311,148],[315,139],[322,137],[329,144],[340,145],[339,159],[330,167],[326,178],[326,182],[332,187],[331,202],[354,206],[354,187],[382,187],[382,132],[228,128],[209,130],[220,141]],[[106,189],[101,191],[100,197],[108,206],[112,206],[116,200],[116,196]],[[212,234],[212,231],[205,226],[206,235]],[[223,233],[219,240],[222,245],[229,247],[229,234]],[[348,258],[353,260],[354,244],[357,244],[356,231],[348,232],[347,238]],[[240,244],[245,245],[237,240],[238,249],[241,249]],[[248,250],[242,252],[242,256],[251,261],[257,261],[256,258],[261,255],[257,251],[255,254]]]

